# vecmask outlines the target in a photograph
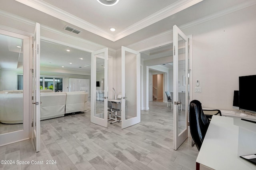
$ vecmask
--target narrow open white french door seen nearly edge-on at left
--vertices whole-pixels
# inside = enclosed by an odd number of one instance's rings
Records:
[[[36,152],[40,151],[40,24],[36,23],[33,50],[33,140]]]

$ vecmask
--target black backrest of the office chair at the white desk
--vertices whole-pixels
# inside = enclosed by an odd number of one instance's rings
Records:
[[[200,101],[191,101],[189,107],[190,133],[198,150],[202,146],[209,123],[207,117],[204,115]]]

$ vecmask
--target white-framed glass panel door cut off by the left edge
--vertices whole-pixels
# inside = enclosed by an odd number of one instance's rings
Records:
[[[0,30],[0,146],[29,138],[29,42]]]

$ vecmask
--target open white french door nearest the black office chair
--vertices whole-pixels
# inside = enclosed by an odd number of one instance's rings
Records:
[[[174,150],[177,150],[188,138],[188,37],[176,25],[173,26],[173,65]],[[185,68],[185,71],[179,67]],[[183,76],[186,91],[179,92]],[[185,103],[180,100],[182,95],[185,96]]]

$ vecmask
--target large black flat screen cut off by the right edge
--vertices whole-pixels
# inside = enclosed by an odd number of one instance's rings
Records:
[[[256,75],[239,77],[239,109],[256,113]]]

